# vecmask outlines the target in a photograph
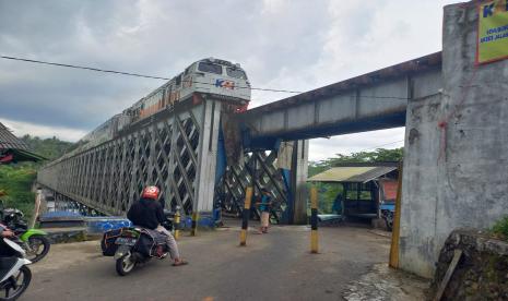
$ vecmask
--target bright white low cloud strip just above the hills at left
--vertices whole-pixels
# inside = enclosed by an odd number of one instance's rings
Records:
[[[43,139],[56,136],[59,140],[76,142],[86,134],[85,131],[61,127],[47,127],[22,121],[0,119],[3,125],[8,127],[15,136],[31,135]]]

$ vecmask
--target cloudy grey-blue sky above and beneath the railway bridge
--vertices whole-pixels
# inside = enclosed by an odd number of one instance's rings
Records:
[[[173,77],[238,62],[255,87],[309,91],[441,48],[451,0],[0,0],[0,55]],[[163,84],[0,59],[0,122],[76,141]],[[251,107],[291,96],[252,93]],[[403,129],[312,140],[310,159],[403,144]]]

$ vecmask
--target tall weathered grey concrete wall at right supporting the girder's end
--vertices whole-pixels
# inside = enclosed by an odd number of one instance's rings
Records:
[[[508,61],[474,65],[473,3],[445,8],[442,93],[407,106],[400,267],[424,277],[453,229],[508,214]]]

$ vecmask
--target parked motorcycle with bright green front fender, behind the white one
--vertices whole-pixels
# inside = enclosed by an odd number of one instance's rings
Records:
[[[3,203],[0,202],[1,220],[5,226],[14,232],[19,243],[26,252],[26,257],[36,263],[44,258],[50,248],[50,242],[46,238],[47,232],[39,229],[28,229],[28,225],[23,219],[24,215],[15,208],[3,209]]]

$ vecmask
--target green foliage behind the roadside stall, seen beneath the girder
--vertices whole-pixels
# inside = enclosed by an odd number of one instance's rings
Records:
[[[358,152],[351,155],[336,154],[336,157],[333,158],[309,162],[308,177],[314,177],[341,164],[401,161],[403,158],[403,147],[394,149],[377,148],[374,152]],[[316,186],[319,192],[319,212],[323,214],[331,213],[333,201],[336,195],[343,193],[342,184],[316,183]],[[362,195],[362,197],[368,198],[369,196]]]

